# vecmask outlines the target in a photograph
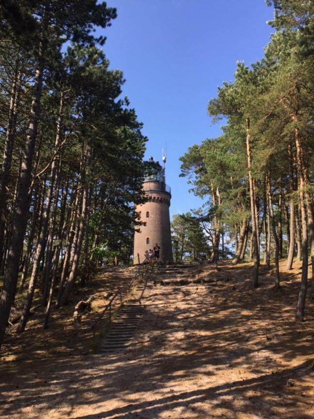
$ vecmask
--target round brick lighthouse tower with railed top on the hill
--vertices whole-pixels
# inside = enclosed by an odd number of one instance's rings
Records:
[[[153,158],[149,160],[153,161]],[[143,262],[145,252],[153,249],[156,243],[160,246],[161,262],[173,258],[169,215],[171,190],[165,183],[165,168],[156,164],[157,168],[147,174],[143,182],[147,201],[136,208],[146,225],[140,226],[141,231],[134,234],[134,264]]]

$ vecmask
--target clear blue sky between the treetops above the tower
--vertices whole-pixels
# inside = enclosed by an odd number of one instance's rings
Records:
[[[188,147],[219,135],[206,114],[223,81],[233,80],[236,61],[263,56],[272,8],[264,0],[107,0],[118,17],[106,29],[110,68],[123,70],[143,134],[146,158],[161,161],[167,145],[166,181],[171,215],[198,208],[180,178],[179,157]]]

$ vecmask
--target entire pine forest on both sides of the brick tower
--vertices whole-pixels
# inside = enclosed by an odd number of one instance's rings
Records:
[[[254,288],[260,263],[274,259],[277,289],[279,259],[287,270],[302,260],[300,322],[308,279],[314,296],[314,2],[267,3],[275,32],[264,58],[238,63],[208,104],[222,135],[181,158],[181,176],[208,206],[174,219],[173,252],[199,259],[209,237],[217,263],[228,237],[234,264],[248,249]],[[63,306],[100,260],[130,259],[146,138],[94,31],[115,17],[96,0],[1,1],[0,344],[17,294],[18,332],[35,289],[46,328],[52,305]]]

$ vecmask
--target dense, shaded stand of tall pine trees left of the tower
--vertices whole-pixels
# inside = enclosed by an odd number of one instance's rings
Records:
[[[36,288],[45,328],[99,260],[128,262],[146,138],[94,32],[114,8],[22,0],[1,2],[0,17],[1,344],[17,293],[18,332]]]

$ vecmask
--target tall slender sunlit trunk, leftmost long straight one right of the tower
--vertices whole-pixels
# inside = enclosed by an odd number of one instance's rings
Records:
[[[255,214],[255,197],[254,197],[254,187],[252,179],[252,169],[251,169],[251,136],[250,136],[250,119],[246,119],[246,147],[247,147],[247,158],[248,158],[248,174],[249,174],[249,184],[250,184],[250,203],[251,203],[251,221],[252,221],[252,239],[253,239],[253,278],[252,286],[253,288],[258,287],[258,268],[259,268],[259,249],[257,241],[257,227],[256,227],[256,214]]]

